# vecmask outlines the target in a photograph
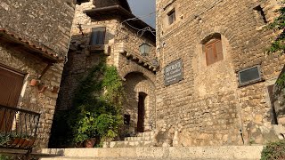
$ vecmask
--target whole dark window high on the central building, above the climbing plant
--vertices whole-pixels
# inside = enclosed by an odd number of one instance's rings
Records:
[[[92,28],[90,45],[105,44],[106,28]]]

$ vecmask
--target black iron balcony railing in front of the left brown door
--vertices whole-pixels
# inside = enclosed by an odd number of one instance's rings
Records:
[[[36,112],[0,105],[0,148],[33,148],[39,117]]]

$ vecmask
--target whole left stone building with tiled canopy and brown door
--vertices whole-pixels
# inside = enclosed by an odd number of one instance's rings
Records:
[[[53,123],[61,72],[69,50],[73,3],[0,2],[0,132],[7,132],[4,123],[8,122],[5,120],[8,111],[4,112],[3,106],[40,113],[37,132],[40,148],[47,147]],[[33,80],[37,83],[31,85]]]

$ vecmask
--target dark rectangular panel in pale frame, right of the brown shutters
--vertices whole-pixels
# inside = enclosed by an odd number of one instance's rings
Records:
[[[261,81],[260,67],[254,66],[239,71],[240,85],[253,84]]]

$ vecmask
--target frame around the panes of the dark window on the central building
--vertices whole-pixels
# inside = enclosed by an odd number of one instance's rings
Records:
[[[100,28],[104,28],[104,31],[101,31]],[[97,30],[95,30],[95,29],[97,29]],[[103,44],[105,44],[106,32],[107,32],[106,27],[92,28],[89,45],[103,45]],[[101,35],[100,34],[102,34],[102,33],[103,33],[103,36],[102,36],[102,39],[101,39]],[[94,36],[95,35],[96,35],[96,42],[94,43]],[[101,43],[101,41],[102,41],[102,43]]]

